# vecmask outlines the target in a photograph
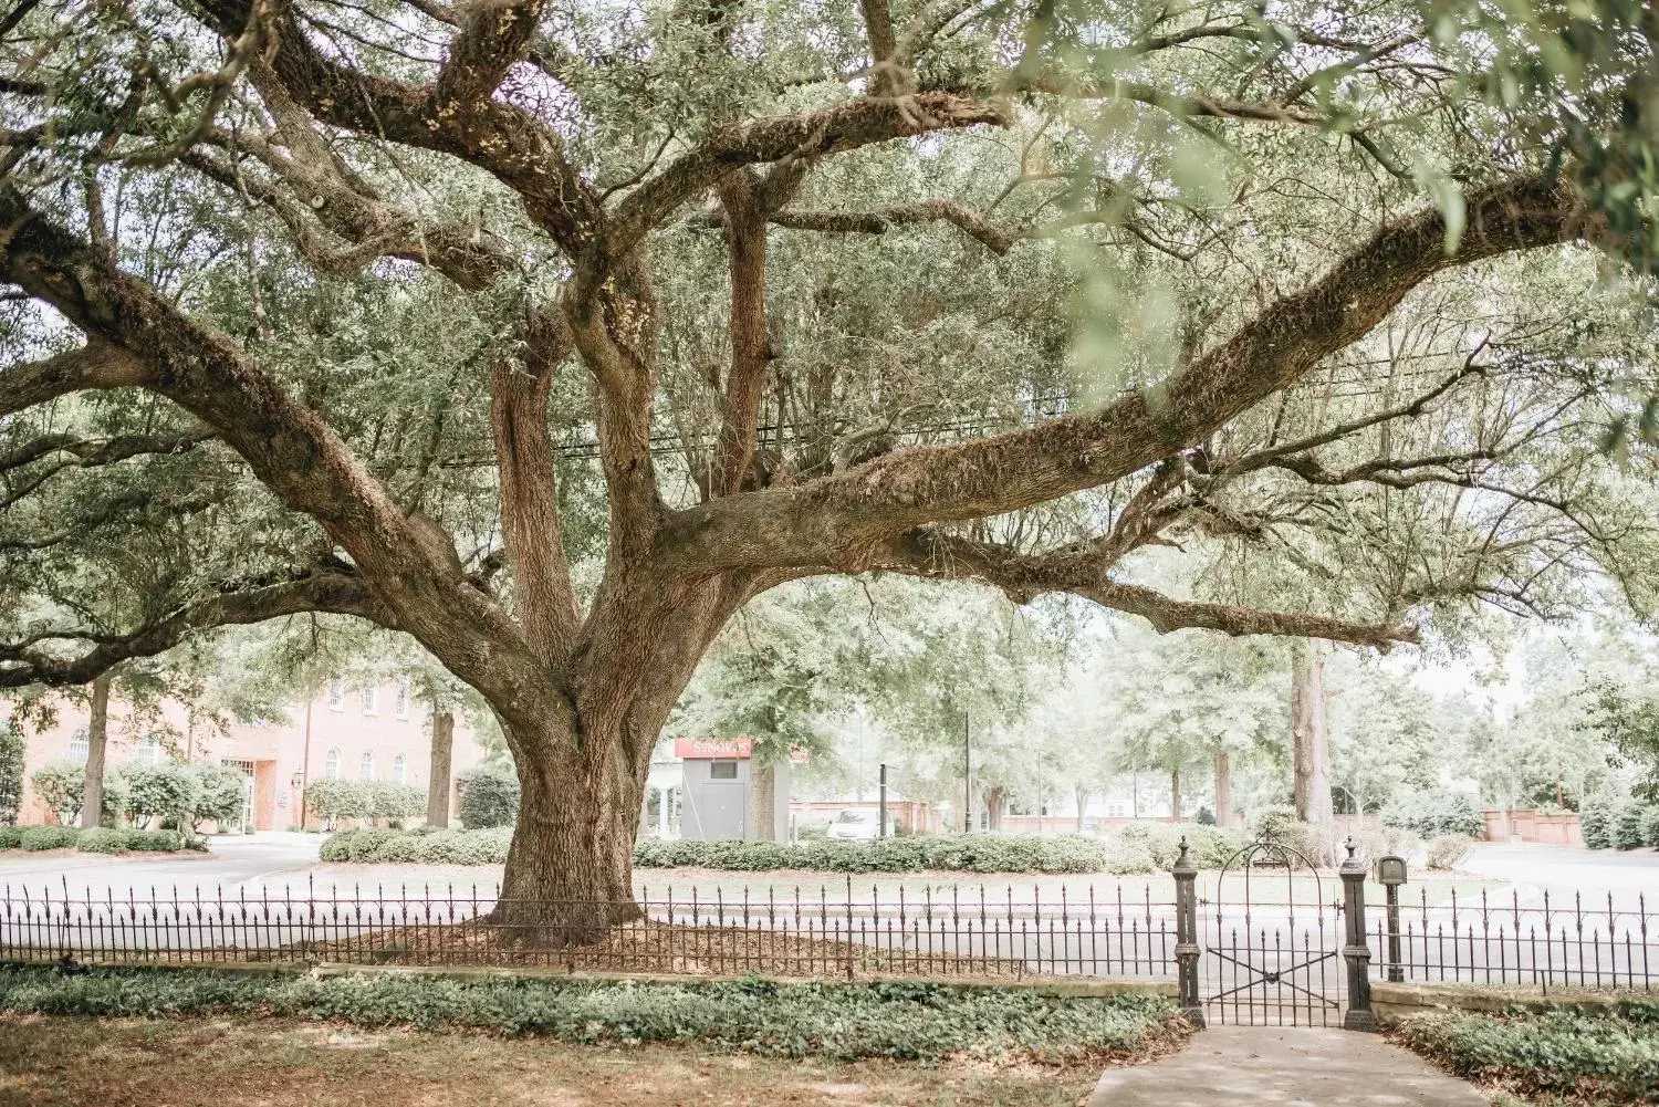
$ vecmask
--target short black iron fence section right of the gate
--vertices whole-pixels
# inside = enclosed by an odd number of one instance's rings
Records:
[[[1420,984],[1525,984],[1659,991],[1659,916],[1647,896],[1619,903],[1613,893],[1521,900],[1486,891],[1430,903],[1372,906],[1372,974]]]

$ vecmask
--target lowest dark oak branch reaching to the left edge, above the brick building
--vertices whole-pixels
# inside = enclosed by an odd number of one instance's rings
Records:
[[[154,657],[201,631],[265,622],[307,611],[360,616],[397,627],[362,578],[319,569],[297,581],[209,596],[126,634],[65,631],[35,634],[22,642],[0,642],[0,687],[85,684],[123,661]],[[65,657],[41,649],[50,641],[91,642],[91,649]]]

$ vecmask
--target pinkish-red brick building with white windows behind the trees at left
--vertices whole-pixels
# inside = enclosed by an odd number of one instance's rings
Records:
[[[7,709],[0,705],[3,714]],[[164,725],[158,727],[153,720],[141,724],[126,704],[111,699],[106,763],[173,758],[239,768],[249,778],[246,810],[255,830],[299,827],[300,792],[309,780],[335,777],[428,785],[431,714],[413,702],[406,679],[378,685],[332,680],[314,702],[290,707],[290,722],[284,724],[232,724],[229,730],[221,730],[192,722],[182,704],[171,702],[163,705],[161,714]],[[50,762],[85,762],[86,722],[85,705],[63,702],[51,727],[25,727],[25,782]],[[483,760],[478,735],[456,717],[451,773]],[[453,795],[450,810],[455,812]],[[51,822],[51,813],[33,785],[25,783],[18,823],[46,822]]]

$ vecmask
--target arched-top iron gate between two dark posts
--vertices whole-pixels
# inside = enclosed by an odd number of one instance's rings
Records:
[[[1282,841],[1256,841],[1199,898],[1199,981],[1208,1021],[1342,1024],[1342,901],[1337,881]]]

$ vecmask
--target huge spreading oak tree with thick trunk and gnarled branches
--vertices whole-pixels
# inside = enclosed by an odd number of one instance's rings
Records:
[[[1538,558],[1616,569],[1589,466],[1540,443],[1618,358],[1540,368],[1525,325],[1501,357],[1463,327],[1357,413],[1286,407],[1440,274],[1639,252],[1598,144],[1629,111],[1485,88],[1485,32],[1447,18],[25,0],[0,20],[0,684],[300,612],[405,632],[518,763],[498,913],[587,939],[635,913],[667,714],[783,583],[977,579],[1387,647],[1440,589],[1525,604]],[[1641,86],[1651,32],[1623,27],[1598,90]],[[1186,292],[1146,334],[1097,325],[1158,280]],[[1493,368],[1559,387],[1465,392]],[[1433,441],[1379,433],[1477,400]],[[1344,488],[1508,506],[1470,579],[1418,556],[1324,611],[1125,573],[1181,533],[1377,524]],[[1511,543],[1543,516],[1571,536]]]

